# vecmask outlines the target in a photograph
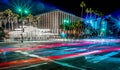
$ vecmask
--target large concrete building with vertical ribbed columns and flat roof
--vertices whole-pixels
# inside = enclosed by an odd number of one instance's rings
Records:
[[[38,23],[38,28],[51,29],[54,33],[60,33],[60,25],[70,22],[82,20],[80,17],[73,14],[61,11],[59,9],[46,12],[40,15],[41,19]]]

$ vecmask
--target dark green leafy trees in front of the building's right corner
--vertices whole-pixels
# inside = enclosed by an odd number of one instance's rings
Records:
[[[61,28],[68,33],[69,38],[78,38],[79,34],[81,34],[84,30],[84,24],[81,21],[71,22],[68,24],[62,24]]]

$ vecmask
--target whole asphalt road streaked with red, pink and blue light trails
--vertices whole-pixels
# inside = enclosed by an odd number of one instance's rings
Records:
[[[120,70],[120,40],[0,48],[0,70]]]

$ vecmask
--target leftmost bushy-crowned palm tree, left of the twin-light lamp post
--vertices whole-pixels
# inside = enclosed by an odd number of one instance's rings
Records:
[[[4,24],[4,27],[5,27],[4,32],[5,32],[5,39],[6,39],[6,38],[9,38],[8,32],[14,29],[14,26],[16,25],[16,24],[14,25],[14,22],[19,16],[13,13],[12,10],[10,9],[6,9],[5,11],[3,11],[1,16],[2,16],[2,20],[4,21],[2,24]]]

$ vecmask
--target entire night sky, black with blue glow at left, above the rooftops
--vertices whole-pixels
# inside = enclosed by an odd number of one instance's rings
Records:
[[[0,0],[0,11],[6,8],[14,10],[14,7],[11,6],[11,4],[15,3],[13,1],[29,1],[29,6],[32,5],[32,14],[40,14],[56,8],[78,16],[81,13],[80,3],[82,0]],[[98,10],[105,15],[120,9],[119,0],[84,0],[84,2],[86,8]],[[22,2],[22,4],[24,3],[26,2]]]

